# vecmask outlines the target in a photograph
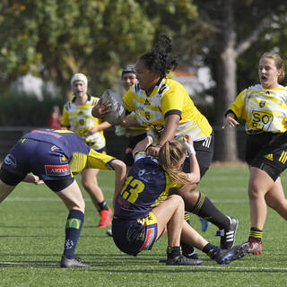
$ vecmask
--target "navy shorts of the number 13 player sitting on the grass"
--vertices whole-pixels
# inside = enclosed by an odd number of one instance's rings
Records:
[[[151,250],[158,235],[155,215],[150,212],[146,218],[134,220],[113,219],[112,234],[119,250],[136,256],[142,250]]]

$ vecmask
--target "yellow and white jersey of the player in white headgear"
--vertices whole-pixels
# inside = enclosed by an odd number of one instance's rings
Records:
[[[87,102],[82,106],[75,105],[74,100],[75,98],[65,103],[61,125],[80,135],[91,148],[95,150],[104,148],[106,139],[103,131],[92,135],[89,133],[92,126],[98,126],[103,121],[98,117],[91,116],[91,109],[100,99],[88,96]]]

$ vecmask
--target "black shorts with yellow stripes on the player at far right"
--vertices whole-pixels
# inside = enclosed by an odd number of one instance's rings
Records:
[[[275,181],[287,167],[287,133],[248,135],[245,160]]]

